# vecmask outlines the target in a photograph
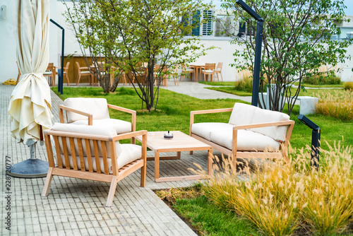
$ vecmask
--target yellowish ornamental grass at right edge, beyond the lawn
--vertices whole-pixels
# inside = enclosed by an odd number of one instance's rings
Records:
[[[353,90],[342,90],[333,94],[317,93],[316,112],[342,121],[353,119]]]

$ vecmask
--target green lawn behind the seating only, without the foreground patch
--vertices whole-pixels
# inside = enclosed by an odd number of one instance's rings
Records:
[[[53,88],[53,90],[57,91],[57,88]],[[332,92],[334,93],[334,90]],[[64,88],[64,94],[59,95],[59,97],[63,100],[71,97],[106,98],[108,103],[113,105],[126,107],[131,110],[141,109],[141,100],[133,88],[119,88],[115,94],[104,94],[102,93],[102,88]],[[189,134],[191,111],[233,107],[234,102],[243,101],[232,99],[201,100],[160,89],[157,111],[137,112],[136,129],[147,129],[148,131],[179,130]],[[131,120],[131,115],[123,112],[114,110],[109,112],[112,118]],[[297,119],[298,115],[299,106],[295,106],[291,114],[291,119],[296,122],[291,143],[293,147],[302,148],[306,144],[311,144],[311,129]],[[229,116],[230,112],[196,115],[195,122],[228,122]],[[307,117],[320,126],[323,148],[326,146],[324,141],[333,144],[335,141],[342,141],[342,139],[344,140],[343,145],[353,145],[353,121],[341,122],[338,119],[325,117],[322,114],[310,114]]]

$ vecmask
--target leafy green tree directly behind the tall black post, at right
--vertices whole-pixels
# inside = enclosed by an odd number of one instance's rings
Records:
[[[320,73],[321,66],[342,63],[352,40],[335,40],[340,35],[337,26],[345,18],[342,0],[247,0],[263,18],[263,50],[261,55],[260,89],[270,87],[269,110],[281,111],[287,102],[292,112],[304,77]],[[253,69],[255,54],[256,21],[241,9],[234,0],[223,0],[223,7],[234,14],[235,20],[246,24],[246,36],[232,35],[233,42],[241,47],[234,53],[238,69]],[[239,24],[238,24],[239,25]],[[229,32],[228,32],[229,34]],[[321,75],[322,76],[322,75]],[[294,83],[299,86],[294,88]],[[261,92],[262,93],[262,92]],[[259,99],[263,98],[260,96]],[[283,98],[283,99],[282,99]],[[261,105],[261,104],[260,104]]]

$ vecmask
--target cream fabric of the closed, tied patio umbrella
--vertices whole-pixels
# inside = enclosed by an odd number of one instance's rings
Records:
[[[50,88],[43,73],[49,62],[49,0],[16,0],[17,61],[21,78],[8,105],[11,133],[17,141],[40,140],[52,127]]]

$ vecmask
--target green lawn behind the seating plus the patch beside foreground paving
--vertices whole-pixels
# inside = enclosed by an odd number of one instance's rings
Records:
[[[57,88],[52,88],[52,90],[57,91]],[[309,94],[311,91],[306,93]],[[333,90],[332,93],[335,91]],[[58,93],[56,92],[56,94]],[[108,103],[112,105],[131,110],[140,110],[142,105],[133,88],[119,88],[114,94],[104,94],[102,88],[64,88],[64,94],[59,97],[63,100],[72,97],[106,98]],[[137,112],[136,129],[147,129],[148,131],[180,130],[189,134],[191,111],[233,107],[234,102],[242,101],[232,99],[200,100],[160,89],[157,111]],[[131,120],[131,116],[128,114],[114,110],[109,112],[112,118]],[[291,144],[295,148],[302,148],[311,143],[311,129],[299,122],[298,114],[299,106],[295,106],[291,114],[291,119],[296,122]],[[228,122],[229,116],[230,112],[196,115],[195,122]],[[322,114],[310,114],[307,117],[321,127],[321,146],[323,148],[327,147],[324,141],[328,141],[331,145],[335,141],[341,141],[341,145],[344,146],[353,145],[353,121],[341,122]],[[344,141],[342,141],[342,136]],[[172,208],[180,216],[189,220],[191,225],[198,229],[202,235],[258,235],[258,230],[253,225],[249,225],[246,220],[236,216],[233,212],[218,208],[205,196],[177,199]]]

